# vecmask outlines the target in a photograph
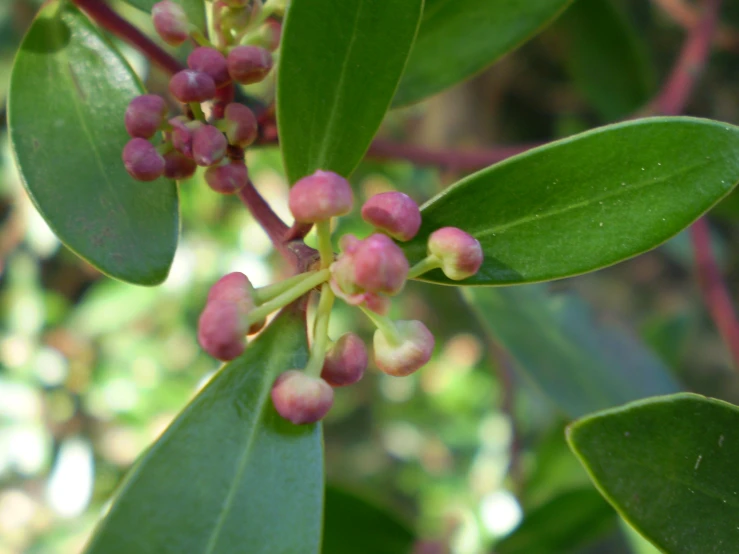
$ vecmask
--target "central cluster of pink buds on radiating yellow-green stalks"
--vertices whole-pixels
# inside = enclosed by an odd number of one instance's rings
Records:
[[[427,271],[440,269],[447,278],[460,280],[482,265],[480,243],[461,229],[444,227],[431,233],[427,257],[411,267],[395,241],[416,236],[421,212],[400,192],[367,200],[361,215],[374,232],[363,239],[344,235],[337,256],[331,246],[331,219],[350,213],[353,203],[349,183],[336,173],[319,170],[300,179],[290,191],[289,207],[296,222],[315,225],[320,268],[260,289],[253,289],[240,273],[227,275],[214,285],[200,318],[203,348],[216,358],[230,360],[241,354],[245,335],[267,315],[320,287],[308,363],[303,370],[280,375],[272,388],[275,408],[296,424],[323,418],[333,403],[332,387],[356,383],[367,368],[369,355],[358,335],[347,333],[335,342],[328,337],[336,297],[358,307],[377,327],[372,342],[377,368],[388,375],[406,376],[429,361],[434,337],[420,321],[391,320],[387,316],[391,298],[409,278]],[[226,307],[229,303],[233,306]]]

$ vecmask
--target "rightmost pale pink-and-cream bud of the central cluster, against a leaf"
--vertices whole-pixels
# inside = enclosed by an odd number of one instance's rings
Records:
[[[441,261],[444,275],[454,281],[472,277],[482,265],[478,240],[456,227],[442,227],[431,233],[428,252]]]

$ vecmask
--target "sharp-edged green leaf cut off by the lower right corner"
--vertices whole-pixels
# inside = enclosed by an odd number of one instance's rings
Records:
[[[736,552],[739,409],[696,394],[634,402],[573,423],[593,482],[664,552]]]

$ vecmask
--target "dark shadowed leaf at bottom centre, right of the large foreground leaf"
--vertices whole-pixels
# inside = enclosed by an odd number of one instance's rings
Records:
[[[410,554],[414,536],[388,511],[349,491],[326,488],[323,554]]]

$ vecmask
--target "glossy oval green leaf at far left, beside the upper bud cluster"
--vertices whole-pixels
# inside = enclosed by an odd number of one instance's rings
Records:
[[[15,60],[10,138],[28,194],[71,250],[112,277],[162,282],[177,247],[177,189],[121,161],[123,114],[143,92],[131,68],[68,2],[47,4]]]

